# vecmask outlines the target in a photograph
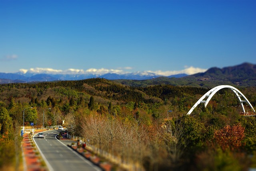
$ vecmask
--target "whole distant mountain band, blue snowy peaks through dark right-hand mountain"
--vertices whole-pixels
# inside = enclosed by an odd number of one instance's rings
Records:
[[[32,73],[0,73],[0,84],[24,83],[24,82],[45,82],[56,80],[84,80],[88,78],[105,78],[115,80],[124,85],[147,86],[158,84],[171,84],[182,86],[212,87],[214,85],[240,85],[256,86],[256,65],[244,63],[237,66],[225,68],[210,68],[206,72],[186,75],[177,74],[168,77],[156,75],[150,72],[137,72],[130,74],[32,74]]]

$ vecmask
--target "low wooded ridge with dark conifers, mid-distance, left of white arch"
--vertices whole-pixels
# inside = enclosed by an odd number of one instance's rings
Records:
[[[47,92],[47,90],[51,90]],[[147,87],[131,87],[115,83],[110,80],[93,78],[79,81],[58,81],[39,83],[0,84],[0,100],[23,98],[47,98],[66,96],[78,98],[82,94],[101,97],[113,101],[144,101],[155,103],[170,97],[184,97],[195,94],[203,95],[208,89],[200,87],[178,87],[173,85],[154,85]],[[49,94],[50,93],[50,94]]]

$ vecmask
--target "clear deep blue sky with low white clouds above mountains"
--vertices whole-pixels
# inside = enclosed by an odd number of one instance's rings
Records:
[[[0,72],[256,64],[255,30],[255,0],[0,0]]]

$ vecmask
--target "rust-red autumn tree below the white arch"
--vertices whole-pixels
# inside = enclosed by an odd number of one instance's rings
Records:
[[[226,125],[224,128],[214,131],[214,140],[223,151],[226,149],[238,150],[242,146],[244,137],[244,127],[241,123],[233,126]]]

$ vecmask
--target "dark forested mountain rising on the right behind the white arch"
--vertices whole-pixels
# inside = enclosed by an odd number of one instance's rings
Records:
[[[232,85],[241,87],[256,87],[256,65],[244,63],[225,68],[210,68],[204,73],[198,73],[183,78],[159,77],[151,80],[115,80],[124,85],[180,85],[193,87],[215,87],[217,85]]]

